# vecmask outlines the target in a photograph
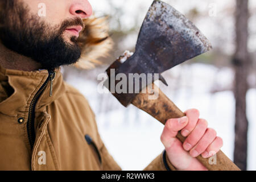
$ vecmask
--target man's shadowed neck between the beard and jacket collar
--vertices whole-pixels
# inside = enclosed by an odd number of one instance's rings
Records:
[[[36,71],[40,69],[40,64],[29,57],[19,55],[11,51],[0,43],[0,64],[6,69],[16,69],[19,71]]]

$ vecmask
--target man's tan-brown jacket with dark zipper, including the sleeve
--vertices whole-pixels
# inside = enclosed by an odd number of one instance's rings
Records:
[[[0,67],[0,170],[31,169],[121,168],[98,134],[88,101],[59,69],[49,75]],[[146,169],[166,170],[162,155]]]

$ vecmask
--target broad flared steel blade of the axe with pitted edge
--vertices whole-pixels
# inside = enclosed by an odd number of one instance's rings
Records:
[[[162,1],[154,1],[138,36],[139,64],[162,73],[212,49],[201,31],[179,11]]]

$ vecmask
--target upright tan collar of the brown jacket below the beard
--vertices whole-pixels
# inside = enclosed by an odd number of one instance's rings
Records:
[[[40,96],[36,110],[51,104],[65,92],[65,84],[60,68],[55,69],[56,75],[52,85],[52,97],[49,97],[50,85]],[[36,93],[48,80],[47,70],[26,72],[13,69],[5,69],[0,65],[0,113],[18,117],[27,116],[31,101]]]

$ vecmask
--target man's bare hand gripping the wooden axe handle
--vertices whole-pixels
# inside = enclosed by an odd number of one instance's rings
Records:
[[[168,119],[164,126],[161,141],[166,154],[177,170],[207,170],[196,157],[215,155],[222,147],[222,139],[216,137],[215,130],[208,128],[205,119],[199,119],[198,110],[187,110],[185,114],[183,118]],[[187,137],[183,144],[176,138],[180,130],[181,135]]]

